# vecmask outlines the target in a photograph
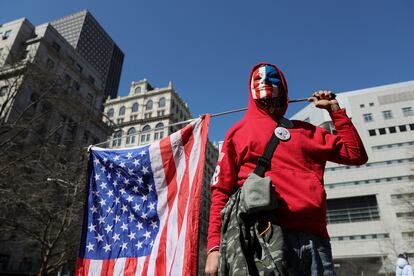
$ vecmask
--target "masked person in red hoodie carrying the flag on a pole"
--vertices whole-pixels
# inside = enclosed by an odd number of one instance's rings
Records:
[[[255,169],[288,106],[285,77],[273,64],[253,67],[248,90],[247,112],[228,130],[211,181],[206,275],[217,275],[220,212]],[[326,228],[325,164],[362,165],[368,157],[351,120],[330,91],[318,91],[308,101],[329,112],[337,134],[292,120],[290,139],[279,143],[265,175],[275,185],[288,267],[299,275],[335,275]]]

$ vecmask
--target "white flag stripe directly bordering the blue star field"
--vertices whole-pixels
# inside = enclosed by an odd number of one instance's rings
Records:
[[[168,187],[165,182],[165,174],[164,174],[164,167],[162,165],[162,158],[161,158],[161,150],[159,143],[151,144],[149,148],[150,159],[151,159],[151,167],[154,174],[154,182],[155,182],[155,189],[157,191],[158,196],[158,203],[157,203],[157,213],[158,218],[160,220],[160,228],[158,229],[158,234],[154,240],[154,246],[151,250],[150,260],[148,263],[148,275],[154,275],[156,268],[155,268],[155,261],[158,255],[158,247],[160,245],[160,238],[162,235],[162,230],[165,226],[165,221],[168,215],[168,204],[167,204],[167,195],[168,195]],[[141,258],[140,258],[141,259]],[[143,261],[138,259],[139,262],[142,264],[138,267],[138,270],[142,271]],[[143,258],[145,260],[145,257]],[[141,272],[137,275],[140,275]]]

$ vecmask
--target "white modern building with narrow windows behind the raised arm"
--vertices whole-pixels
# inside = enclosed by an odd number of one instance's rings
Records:
[[[337,94],[368,163],[328,163],[327,222],[338,275],[393,275],[399,253],[414,258],[414,81]],[[335,133],[309,105],[292,119]]]

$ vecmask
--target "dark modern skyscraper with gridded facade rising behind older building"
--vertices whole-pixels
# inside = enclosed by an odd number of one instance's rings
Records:
[[[86,10],[50,22],[99,73],[105,98],[116,98],[124,53]]]

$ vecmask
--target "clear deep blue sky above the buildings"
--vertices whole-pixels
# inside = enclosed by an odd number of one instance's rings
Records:
[[[414,80],[412,0],[3,0],[0,21],[37,25],[83,9],[125,53],[119,95],[143,78],[172,81],[193,116],[245,107],[260,61],[284,71],[291,98]],[[242,114],[213,118],[210,138]]]

